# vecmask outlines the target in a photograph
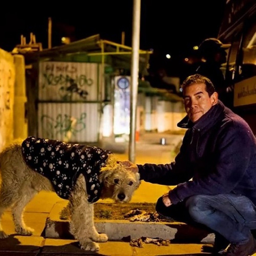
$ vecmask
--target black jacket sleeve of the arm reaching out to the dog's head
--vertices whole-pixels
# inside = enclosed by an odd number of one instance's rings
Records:
[[[175,157],[175,161],[170,164],[144,164],[137,165],[140,173],[140,179],[146,182],[160,184],[160,185],[177,185],[190,179],[193,174],[188,168],[186,157],[186,141],[187,135],[183,138],[180,152]]]

